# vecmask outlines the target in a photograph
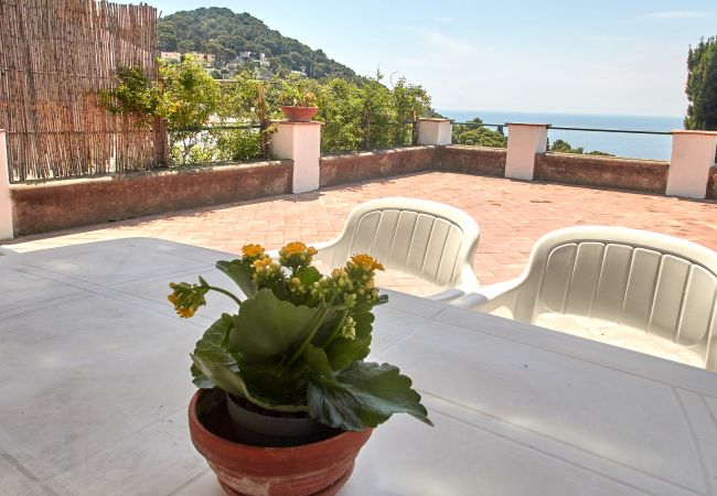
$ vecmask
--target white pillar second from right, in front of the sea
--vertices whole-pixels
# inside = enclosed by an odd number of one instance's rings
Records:
[[[507,123],[505,177],[533,181],[535,154],[545,153],[548,126],[550,125]]]

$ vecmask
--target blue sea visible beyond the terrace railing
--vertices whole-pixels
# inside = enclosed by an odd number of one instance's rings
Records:
[[[683,129],[682,116],[609,116],[590,114],[500,112],[484,110],[438,110],[457,122],[480,117],[485,123],[534,122],[564,128],[619,129],[630,131],[664,131]],[[495,128],[490,128],[495,129]],[[629,134],[602,131],[565,131],[548,129],[548,140],[565,140],[586,152],[599,150],[633,159],[670,160],[672,137],[661,134]]]

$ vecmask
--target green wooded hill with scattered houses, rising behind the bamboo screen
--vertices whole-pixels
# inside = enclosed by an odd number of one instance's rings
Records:
[[[227,67],[234,72],[243,68],[243,64],[252,68],[259,60],[258,54],[264,53],[274,74],[297,71],[314,78],[357,77],[350,67],[329,58],[323,51],[311,50],[297,40],[282,36],[246,12],[235,13],[218,7],[181,11],[160,19],[158,30],[160,50],[213,54],[215,67],[224,74],[229,72]]]

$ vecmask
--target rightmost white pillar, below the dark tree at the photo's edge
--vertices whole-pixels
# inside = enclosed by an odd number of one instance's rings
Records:
[[[672,157],[665,194],[704,198],[715,165],[717,131],[672,131]]]

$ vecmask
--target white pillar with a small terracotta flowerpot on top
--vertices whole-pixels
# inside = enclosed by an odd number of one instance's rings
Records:
[[[292,193],[319,188],[319,154],[321,152],[322,122],[276,122],[270,151],[277,159],[293,160]]]

